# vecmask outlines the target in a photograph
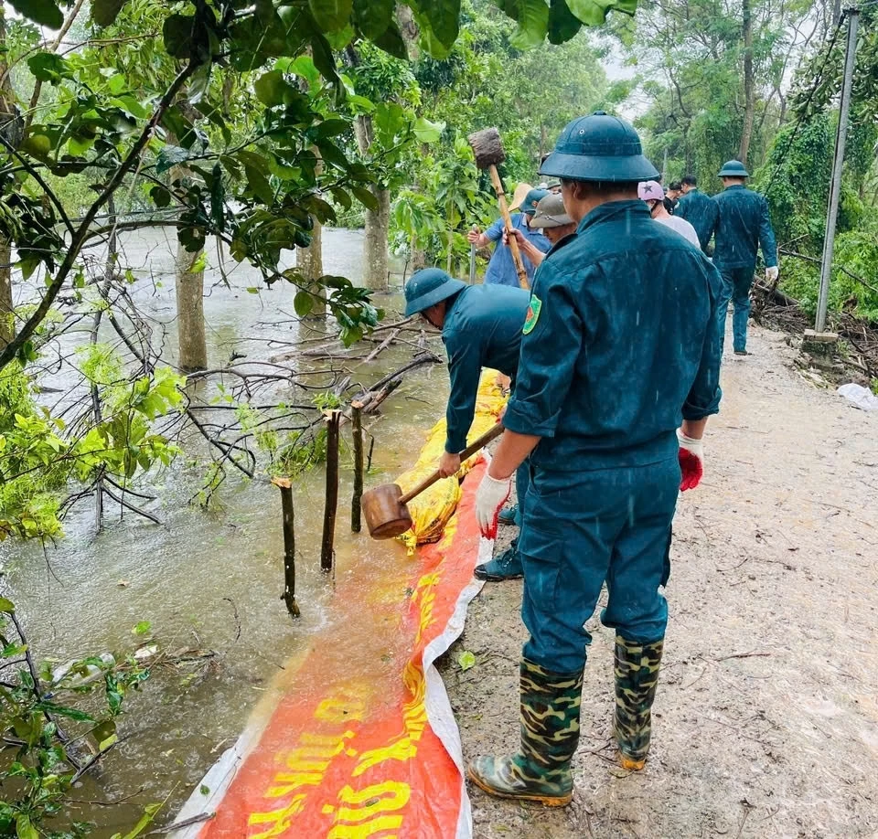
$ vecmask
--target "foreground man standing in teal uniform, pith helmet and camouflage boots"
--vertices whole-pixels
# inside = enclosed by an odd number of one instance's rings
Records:
[[[659,173],[624,120],[574,120],[540,174],[561,178],[577,233],[534,278],[506,430],[476,493],[487,531],[530,457],[521,742],[512,755],[476,759],[469,777],[494,795],[563,805],[573,797],[584,623],[604,582],[619,759],[638,770],[647,758],[671,521],[680,489],[701,478],[701,437],[721,395],[720,277],[649,218],[637,184]]]

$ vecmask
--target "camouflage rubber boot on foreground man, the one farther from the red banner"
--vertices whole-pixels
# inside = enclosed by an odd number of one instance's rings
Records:
[[[659,684],[662,643],[637,643],[616,635],[613,731],[626,770],[642,770],[647,762],[652,730],[650,708]]]

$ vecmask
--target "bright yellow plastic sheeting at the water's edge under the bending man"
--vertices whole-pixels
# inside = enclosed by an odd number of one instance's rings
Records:
[[[469,430],[467,442],[474,441],[476,437],[489,430],[497,422],[500,411],[506,405],[507,398],[498,387],[497,376],[496,370],[482,372],[476,398],[476,416]],[[403,493],[407,493],[436,470],[439,458],[442,457],[445,449],[445,430],[446,424],[443,417],[430,430],[427,441],[423,444],[421,454],[418,456],[418,461],[412,466],[412,469],[402,473],[396,479],[396,483],[402,487]],[[409,502],[412,527],[398,538],[408,547],[410,557],[416,546],[424,545],[427,542],[437,542],[442,537],[444,526],[454,514],[457,502],[460,501],[459,478],[463,478],[473,468],[477,459],[478,454],[476,453],[461,464],[457,476],[442,478]]]

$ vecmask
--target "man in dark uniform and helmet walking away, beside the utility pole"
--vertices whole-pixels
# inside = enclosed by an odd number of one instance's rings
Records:
[[[735,356],[748,356],[747,322],[750,319],[750,288],[756,270],[756,252],[762,249],[766,280],[777,278],[775,231],[768,218],[768,202],[744,186],[750,173],[740,160],[730,160],[720,170],[723,192],[714,197],[717,217],[714,228],[713,264],[723,274],[720,323],[725,335],[725,313],[732,301],[732,337]]]

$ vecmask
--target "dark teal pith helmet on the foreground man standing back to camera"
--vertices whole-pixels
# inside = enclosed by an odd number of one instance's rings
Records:
[[[630,183],[653,180],[659,170],[643,156],[640,138],[628,122],[596,111],[567,123],[540,174],[573,181]]]

